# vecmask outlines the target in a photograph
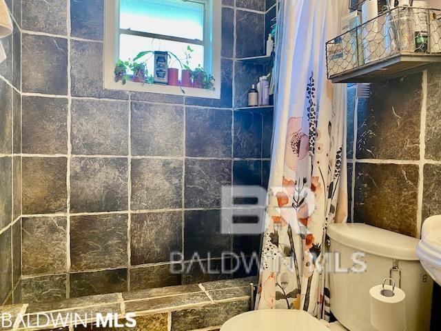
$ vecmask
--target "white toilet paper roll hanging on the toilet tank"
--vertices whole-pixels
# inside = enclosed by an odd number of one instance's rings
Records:
[[[371,297],[371,324],[378,331],[405,331],[406,294],[400,288],[393,289],[393,297],[382,294],[382,285],[369,290]],[[384,285],[385,290],[392,290],[391,285]]]

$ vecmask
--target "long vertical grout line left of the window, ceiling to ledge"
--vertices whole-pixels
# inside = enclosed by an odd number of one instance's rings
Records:
[[[71,41],[70,41],[70,0],[67,2],[67,14],[66,14],[66,26],[68,32],[68,118],[67,118],[67,132],[68,132],[68,164],[66,170],[66,189],[67,189],[67,199],[66,199],[66,298],[70,298],[70,268],[72,267],[72,261],[70,260],[70,160],[72,154],[72,142],[71,142],[71,122],[72,122],[72,95],[71,95],[71,87],[72,87],[72,77],[70,72],[70,51],[71,51]]]

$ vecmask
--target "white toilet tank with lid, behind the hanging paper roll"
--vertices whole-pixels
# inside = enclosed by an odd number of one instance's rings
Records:
[[[376,331],[371,325],[369,289],[398,265],[400,288],[406,294],[407,331],[429,331],[433,281],[416,255],[418,239],[361,223],[331,224],[328,234],[331,312],[342,325],[350,331]],[[363,263],[352,261],[354,252],[365,253],[355,257],[365,262],[365,272],[356,272]],[[399,272],[392,271],[392,278],[398,286]]]

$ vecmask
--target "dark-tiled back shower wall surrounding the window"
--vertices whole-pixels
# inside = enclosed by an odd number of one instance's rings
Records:
[[[249,263],[260,236],[220,233],[220,188],[267,185],[273,113],[237,109],[266,72],[238,59],[264,53],[274,1],[223,0],[220,100],[104,90],[103,2],[23,1],[23,302],[256,274],[222,254]]]

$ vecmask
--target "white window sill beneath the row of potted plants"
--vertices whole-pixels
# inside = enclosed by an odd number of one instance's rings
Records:
[[[121,81],[105,81],[104,88],[107,90],[122,90],[147,92],[158,94],[181,95],[182,97],[196,97],[205,99],[220,99],[220,90],[205,90],[203,88],[181,88],[179,86],[170,86],[162,84],[136,83],[127,81],[123,84]]]

